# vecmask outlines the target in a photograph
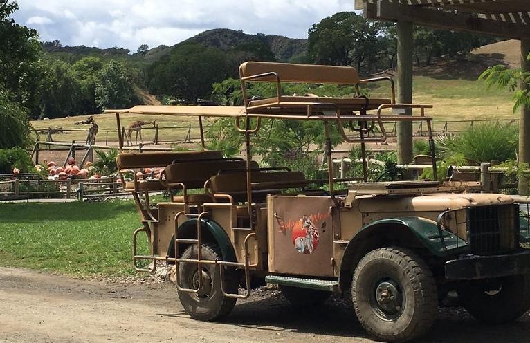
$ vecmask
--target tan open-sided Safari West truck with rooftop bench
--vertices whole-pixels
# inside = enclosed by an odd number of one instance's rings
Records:
[[[200,151],[122,153],[117,160],[142,223],[133,237],[134,265],[154,272],[157,261],[174,264],[177,293],[191,317],[222,319],[237,299],[265,283],[277,284],[300,306],[342,293],[366,331],[386,342],[426,333],[451,290],[470,315],[488,324],[511,322],[530,308],[530,252],[522,248],[528,214],[511,196],[470,193],[436,177],[366,182],[365,145],[385,141],[385,122],[425,122],[435,166],[432,118],[426,116],[432,106],[396,103],[390,77],[363,80],[350,67],[246,62],[239,73],[244,106],[107,111],[116,113],[118,133],[129,114],[199,119]],[[272,82],[277,95],[250,98],[249,82]],[[284,95],[282,82],[349,84],[358,92],[349,98]],[[390,95],[361,95],[370,82],[387,82]],[[204,149],[205,117],[234,120],[244,158]],[[252,141],[266,120],[322,122],[327,177],[312,180],[253,160]],[[360,145],[363,177],[333,177],[331,130]],[[149,178],[141,174],[146,167],[164,169]],[[149,202],[149,193],[160,191],[169,192],[170,201]],[[138,253],[140,234],[150,254]]]

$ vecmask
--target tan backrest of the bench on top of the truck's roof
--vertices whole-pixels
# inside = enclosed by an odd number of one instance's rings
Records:
[[[357,84],[359,74],[351,66],[320,66],[275,62],[244,62],[239,66],[239,77],[277,73],[282,82],[317,84]],[[276,78],[262,77],[253,82],[275,82]]]

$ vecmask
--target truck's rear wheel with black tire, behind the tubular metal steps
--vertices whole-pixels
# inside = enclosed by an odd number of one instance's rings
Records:
[[[190,245],[184,250],[183,259],[197,259],[197,245]],[[202,259],[221,260],[219,246],[212,243],[202,244]],[[203,287],[201,292],[187,293],[179,291],[181,304],[192,318],[204,321],[216,321],[228,315],[235,306],[237,299],[228,298],[221,290],[219,267],[214,264],[201,266],[203,270]],[[183,288],[198,287],[198,269],[196,263],[180,263],[179,285]],[[237,293],[238,279],[235,270],[226,269],[223,273],[224,290],[226,293]]]

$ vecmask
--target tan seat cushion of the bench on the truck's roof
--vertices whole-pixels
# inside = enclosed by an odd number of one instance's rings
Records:
[[[271,105],[277,111],[277,108],[285,107],[285,111],[295,111],[300,108],[306,109],[307,105],[298,105],[298,102],[311,102],[315,104],[336,104],[340,109],[345,110],[360,110],[367,104],[367,110],[378,109],[382,104],[390,104],[391,100],[387,98],[326,98],[316,96],[285,96],[282,95],[282,102],[277,103],[277,98],[266,98],[260,100],[252,100],[248,103],[249,107],[252,106],[266,106]],[[325,105],[322,105],[322,109]],[[330,106],[331,108],[331,106]],[[250,109],[250,111],[253,111]],[[254,111],[263,111],[263,109],[255,109]]]

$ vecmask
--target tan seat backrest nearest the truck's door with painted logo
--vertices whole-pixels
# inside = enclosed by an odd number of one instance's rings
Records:
[[[285,189],[304,187],[305,176],[302,172],[253,172],[253,190]],[[246,192],[246,172],[227,172],[210,178],[212,193],[241,193]]]

